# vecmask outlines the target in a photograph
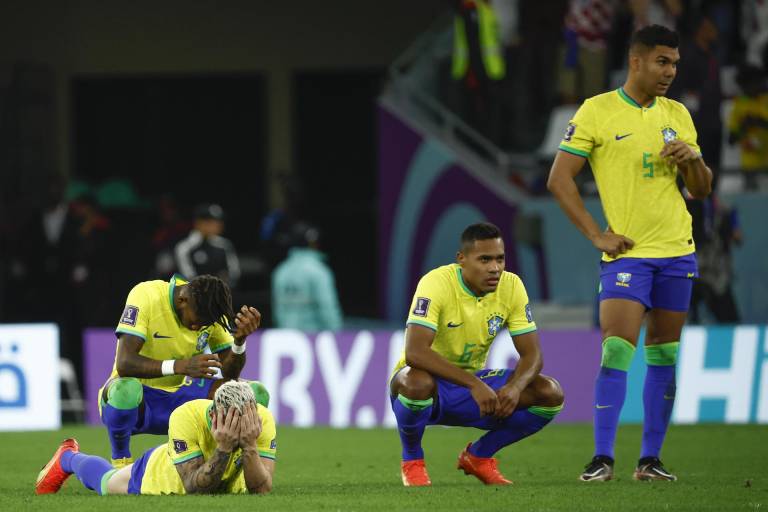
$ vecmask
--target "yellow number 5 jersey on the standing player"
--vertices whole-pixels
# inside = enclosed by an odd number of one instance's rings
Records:
[[[677,166],[659,153],[680,139],[701,153],[683,104],[657,97],[642,107],[623,89],[586,100],[560,150],[589,160],[608,225],[635,246],[619,258],[671,258],[695,252]],[[606,254],[603,260],[612,261]]]

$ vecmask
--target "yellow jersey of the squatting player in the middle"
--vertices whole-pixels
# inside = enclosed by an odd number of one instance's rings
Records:
[[[461,266],[438,267],[419,281],[407,325],[435,331],[432,350],[468,372],[485,367],[491,343],[502,328],[519,336],[536,330],[522,280],[502,272],[496,290],[475,295],[464,283]],[[406,366],[405,352],[394,368]]]

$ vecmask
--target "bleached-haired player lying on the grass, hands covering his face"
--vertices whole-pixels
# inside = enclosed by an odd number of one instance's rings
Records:
[[[74,473],[105,494],[267,493],[275,470],[275,421],[248,383],[224,383],[211,400],[187,402],[171,414],[168,442],[115,469],[80,453],[66,439],[37,477],[35,492],[58,492]]]

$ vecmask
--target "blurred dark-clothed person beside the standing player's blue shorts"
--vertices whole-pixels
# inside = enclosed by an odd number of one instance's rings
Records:
[[[731,248],[741,245],[743,240],[739,212],[723,205],[715,194],[686,203],[699,263],[699,278],[693,282],[690,321],[701,321],[699,305],[703,303],[717,322],[737,324],[740,316],[732,290]]]

